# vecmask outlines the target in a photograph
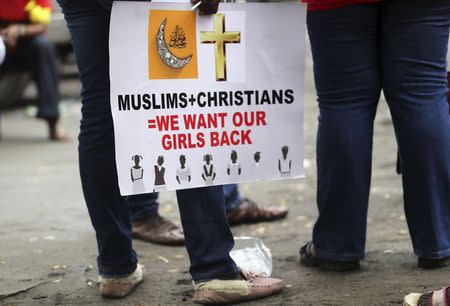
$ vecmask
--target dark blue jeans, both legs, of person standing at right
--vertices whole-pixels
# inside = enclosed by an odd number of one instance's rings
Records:
[[[447,0],[388,0],[308,13],[320,109],[313,241],[330,260],[364,257],[373,123],[381,90],[394,122],[415,254],[450,255]],[[387,152],[394,156],[395,152]]]

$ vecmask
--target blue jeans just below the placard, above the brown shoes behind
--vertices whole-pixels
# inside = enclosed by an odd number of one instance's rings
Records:
[[[242,203],[239,189],[236,184],[224,185],[225,211],[229,213]],[[158,211],[158,193],[138,194],[128,197],[130,203],[131,221],[146,219]]]

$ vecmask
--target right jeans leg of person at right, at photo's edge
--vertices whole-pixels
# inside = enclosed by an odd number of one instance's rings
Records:
[[[414,251],[450,256],[450,4],[382,5],[383,88],[400,146],[405,213]]]

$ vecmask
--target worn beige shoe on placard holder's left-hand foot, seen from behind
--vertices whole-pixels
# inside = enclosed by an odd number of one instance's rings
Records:
[[[100,293],[109,299],[119,299],[130,294],[144,279],[144,266],[137,264],[136,270],[126,276],[99,276]]]

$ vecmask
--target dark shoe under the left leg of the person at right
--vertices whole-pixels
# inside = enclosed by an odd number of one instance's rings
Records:
[[[306,267],[319,267],[328,271],[349,272],[356,271],[361,268],[359,260],[355,261],[334,261],[318,258],[314,251],[312,241],[307,242],[300,248],[300,263]]]

